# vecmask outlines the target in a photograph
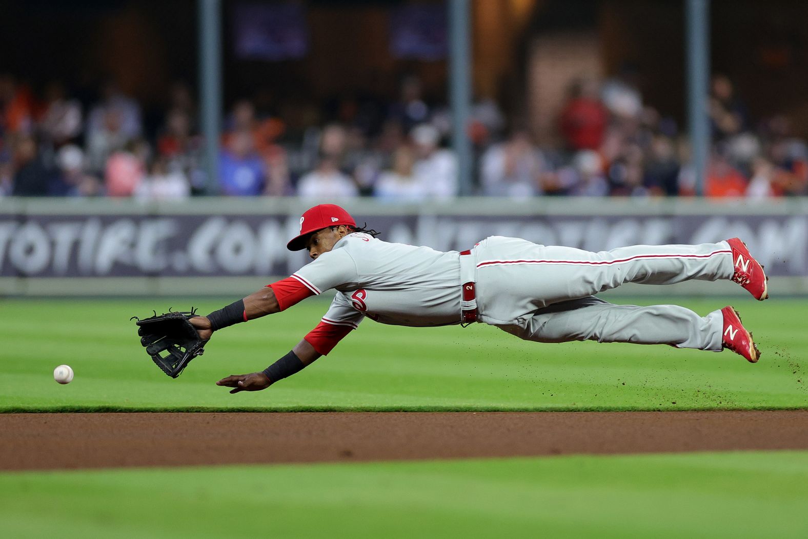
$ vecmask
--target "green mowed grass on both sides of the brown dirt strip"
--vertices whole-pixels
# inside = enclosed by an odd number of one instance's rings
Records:
[[[727,301],[671,302],[706,314]],[[230,395],[214,382],[282,356],[327,304],[222,331],[170,380],[128,318],[187,299],[2,301],[0,411],[808,407],[805,301],[731,302],[764,352],[758,364],[366,321],[297,376]],[[76,373],[69,385],[53,381],[62,363]],[[806,507],[806,451],[0,474],[3,537],[808,537]]]

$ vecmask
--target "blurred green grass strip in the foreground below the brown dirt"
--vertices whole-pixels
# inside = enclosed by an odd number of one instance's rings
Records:
[[[806,537],[808,452],[0,474],[9,537]]]

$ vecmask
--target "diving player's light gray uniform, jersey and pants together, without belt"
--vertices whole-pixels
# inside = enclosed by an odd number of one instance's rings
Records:
[[[466,268],[461,280],[461,259]],[[471,268],[469,274],[468,268]],[[720,311],[701,317],[677,305],[612,305],[595,293],[626,282],[730,279],[726,242],[630,246],[592,253],[492,236],[471,255],[348,234],[292,275],[312,292],[335,288],[323,322],[356,328],[365,316],[398,326],[461,323],[461,282],[476,282],[478,321],[547,343],[666,343],[721,350]]]

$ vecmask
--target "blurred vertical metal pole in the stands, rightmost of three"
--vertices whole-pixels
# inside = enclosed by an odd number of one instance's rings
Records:
[[[703,196],[712,135],[708,116],[709,97],[709,0],[687,2],[688,118],[696,195]]]

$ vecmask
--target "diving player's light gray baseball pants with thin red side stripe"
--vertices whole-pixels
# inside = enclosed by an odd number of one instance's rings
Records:
[[[479,320],[541,343],[671,344],[722,349],[722,314],[678,305],[612,305],[594,294],[624,283],[730,279],[726,242],[629,246],[593,253],[492,236],[473,249]]]

